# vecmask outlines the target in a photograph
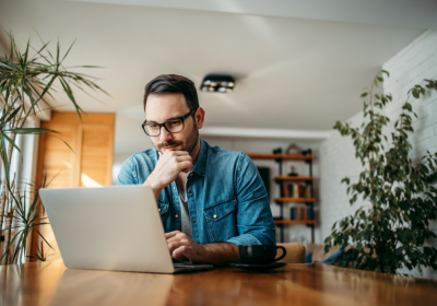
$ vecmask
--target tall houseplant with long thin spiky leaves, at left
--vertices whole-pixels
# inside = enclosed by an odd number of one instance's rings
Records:
[[[4,237],[1,250],[1,263],[20,263],[27,255],[27,239],[33,231],[36,231],[48,245],[36,226],[46,224],[46,217],[38,213],[42,205],[38,191],[35,190],[31,199],[29,188],[22,191],[23,183],[17,181],[16,169],[11,169],[11,160],[14,154],[20,157],[21,151],[16,142],[17,134],[37,134],[56,132],[40,128],[26,128],[26,120],[36,116],[44,108],[54,109],[48,102],[52,97],[56,87],[64,93],[81,116],[81,107],[78,105],[73,87],[82,91],[91,89],[104,92],[88,75],[72,72],[62,66],[63,60],[71,50],[61,56],[59,42],[56,52],[48,49],[49,43],[42,39],[42,47],[35,49],[27,40],[24,52],[16,47],[12,34],[10,38],[9,55],[0,56],[0,157],[3,172],[0,196],[0,233]],[[82,68],[92,68],[82,66]],[[20,172],[21,169],[17,169]],[[43,186],[46,186],[44,179]],[[27,183],[28,184],[28,183]],[[49,245],[48,245],[49,246]],[[49,246],[50,247],[50,246]],[[39,254],[35,258],[44,260],[44,247],[38,247]]]

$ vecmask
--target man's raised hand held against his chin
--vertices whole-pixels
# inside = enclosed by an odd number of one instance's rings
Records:
[[[192,169],[192,160],[187,151],[165,151],[160,152],[160,160],[155,168],[149,175],[144,184],[150,185],[156,200],[161,191],[176,179],[181,173],[189,173]]]

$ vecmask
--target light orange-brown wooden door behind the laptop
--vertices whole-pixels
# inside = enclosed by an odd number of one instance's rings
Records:
[[[42,128],[58,133],[40,137],[37,185],[44,177],[48,188],[111,185],[114,126],[114,114],[82,114],[81,120],[76,113],[54,111],[50,121],[42,122]],[[47,260],[61,261],[51,226],[42,225],[38,231],[55,248],[45,247]],[[36,245],[40,238],[34,233],[32,255]]]

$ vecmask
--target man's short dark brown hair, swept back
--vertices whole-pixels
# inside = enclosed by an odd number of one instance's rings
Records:
[[[184,94],[185,101],[190,110],[199,107],[198,92],[196,91],[196,85],[191,80],[177,74],[162,74],[145,85],[143,102],[144,110],[150,94],[162,95],[172,93]]]

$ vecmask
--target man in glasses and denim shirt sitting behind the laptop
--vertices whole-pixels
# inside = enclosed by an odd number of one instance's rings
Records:
[[[274,245],[265,188],[241,152],[199,138],[205,111],[192,81],[160,75],[145,86],[144,132],[154,149],[131,155],[118,185],[151,186],[172,257],[194,263],[238,262],[239,245]]]

